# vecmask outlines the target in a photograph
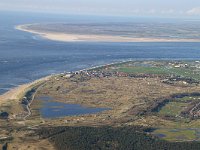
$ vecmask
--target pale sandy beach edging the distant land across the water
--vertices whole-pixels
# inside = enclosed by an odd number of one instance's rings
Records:
[[[200,42],[200,39],[162,39],[162,38],[135,38],[112,35],[84,35],[59,32],[46,32],[27,29],[31,24],[17,25],[16,30],[36,34],[44,39],[60,42]]]

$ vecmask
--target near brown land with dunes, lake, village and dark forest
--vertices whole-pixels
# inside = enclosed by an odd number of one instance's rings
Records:
[[[1,103],[0,142],[10,149],[199,149],[199,74],[199,61],[163,60],[49,76]]]

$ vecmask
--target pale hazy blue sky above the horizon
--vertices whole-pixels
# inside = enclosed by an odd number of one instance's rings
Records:
[[[0,10],[200,18],[200,0],[0,0]]]

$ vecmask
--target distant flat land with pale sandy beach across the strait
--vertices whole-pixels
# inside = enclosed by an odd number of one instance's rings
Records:
[[[200,28],[187,23],[49,23],[15,28],[61,42],[200,42]]]

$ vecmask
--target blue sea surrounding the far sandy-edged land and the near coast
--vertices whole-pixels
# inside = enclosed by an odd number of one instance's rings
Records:
[[[29,23],[103,21],[112,19],[0,12],[0,93],[50,74],[123,60],[200,59],[200,43],[64,43],[14,28]]]

